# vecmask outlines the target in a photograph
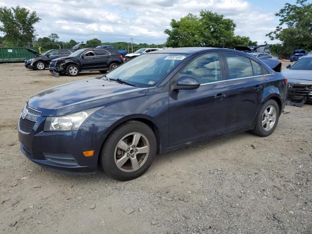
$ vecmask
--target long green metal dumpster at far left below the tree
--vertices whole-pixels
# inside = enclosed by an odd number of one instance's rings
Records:
[[[29,47],[39,52],[37,47]],[[26,50],[25,47],[0,47],[0,62],[23,62],[36,56]]]

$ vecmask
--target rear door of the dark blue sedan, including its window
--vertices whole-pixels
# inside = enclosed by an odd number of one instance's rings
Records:
[[[252,124],[265,81],[261,65],[254,60],[232,53],[224,53],[223,58],[229,89],[225,130],[231,131]]]

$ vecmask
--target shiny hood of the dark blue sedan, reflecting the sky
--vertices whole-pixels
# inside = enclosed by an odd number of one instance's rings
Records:
[[[148,88],[91,78],[44,90],[29,98],[28,105],[41,111],[42,116],[62,116],[101,107],[118,99],[142,96],[147,91]]]

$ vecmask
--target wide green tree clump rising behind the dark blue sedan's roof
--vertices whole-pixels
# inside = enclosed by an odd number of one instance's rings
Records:
[[[168,35],[166,46],[169,47],[234,48],[236,45],[256,44],[248,37],[234,36],[234,21],[211,11],[202,10],[199,16],[188,14],[180,20],[172,19],[170,26],[171,30],[164,32]]]

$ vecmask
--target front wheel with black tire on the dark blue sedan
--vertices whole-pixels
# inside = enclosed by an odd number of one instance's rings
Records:
[[[156,156],[156,137],[152,129],[139,121],[117,127],[106,139],[101,168],[117,180],[131,180],[144,174]]]

